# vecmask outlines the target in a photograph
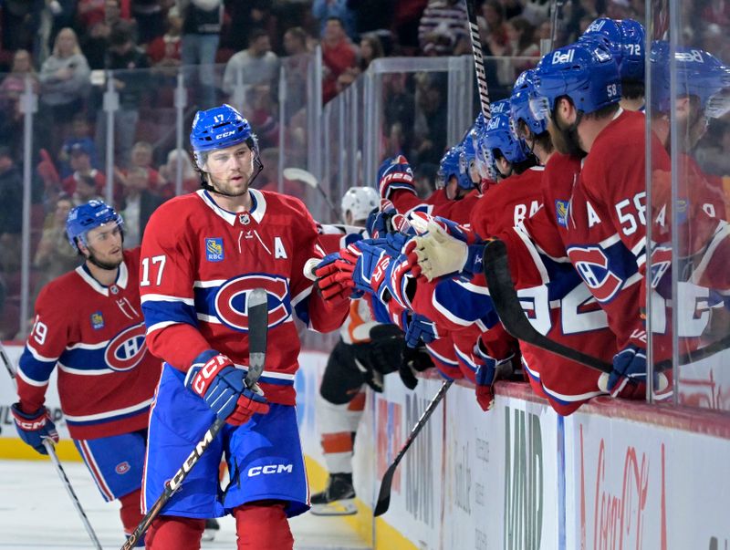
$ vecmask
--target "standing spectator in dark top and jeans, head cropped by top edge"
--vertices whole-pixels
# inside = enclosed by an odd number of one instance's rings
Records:
[[[183,16],[183,66],[200,66],[198,107],[208,109],[215,103],[214,64],[223,24],[223,0],[178,0],[178,6]]]

